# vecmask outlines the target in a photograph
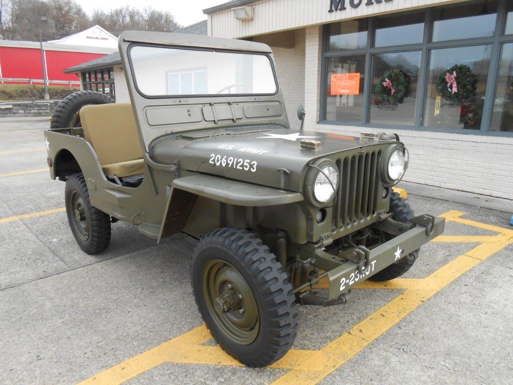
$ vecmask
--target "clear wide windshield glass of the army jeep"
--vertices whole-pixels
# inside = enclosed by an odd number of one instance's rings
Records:
[[[269,57],[263,54],[134,46],[135,84],[147,96],[273,94]]]

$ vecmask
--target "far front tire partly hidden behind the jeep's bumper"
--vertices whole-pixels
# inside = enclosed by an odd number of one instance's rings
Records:
[[[397,192],[392,192],[390,195],[390,211],[392,212],[392,219],[398,222],[410,223],[410,221],[415,217],[410,204],[406,202],[404,198],[401,198]],[[393,263],[390,266],[385,267],[382,271],[374,274],[369,278],[369,280],[382,282],[401,277],[411,268],[411,266],[413,266],[418,256],[419,250],[416,250],[415,252],[404,256],[396,263]]]

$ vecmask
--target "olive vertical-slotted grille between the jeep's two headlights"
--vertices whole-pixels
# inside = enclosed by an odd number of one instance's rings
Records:
[[[379,194],[381,150],[341,158],[336,161],[341,180],[334,207],[334,224],[344,230],[376,215]]]

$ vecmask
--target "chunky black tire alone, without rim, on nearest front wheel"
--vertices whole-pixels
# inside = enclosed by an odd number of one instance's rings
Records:
[[[213,261],[226,263],[219,272],[224,272],[228,266],[229,269],[234,268],[251,291],[251,299],[257,306],[258,323],[254,326],[256,333],[250,342],[239,343],[229,332],[226,333],[226,328],[223,329],[220,317],[228,319],[235,315],[218,316],[212,312],[208,298],[213,295],[204,290],[204,279]],[[214,339],[228,354],[248,367],[270,365],[292,347],[299,321],[292,285],[277,258],[253,233],[225,227],[201,238],[192,257],[191,284],[201,316]],[[247,304],[245,302],[241,306]]]

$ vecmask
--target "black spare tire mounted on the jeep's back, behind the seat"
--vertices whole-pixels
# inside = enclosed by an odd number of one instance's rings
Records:
[[[80,109],[90,104],[114,103],[110,97],[101,92],[78,91],[64,98],[52,115],[50,128],[81,127]]]

